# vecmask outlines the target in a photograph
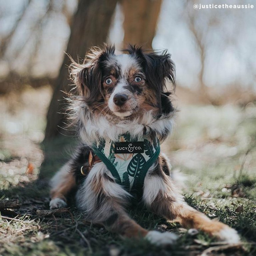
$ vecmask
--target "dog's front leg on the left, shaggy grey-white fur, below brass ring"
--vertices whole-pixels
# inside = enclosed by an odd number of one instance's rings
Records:
[[[123,237],[144,237],[151,240],[153,235],[161,236],[157,231],[148,231],[132,220],[124,208],[130,194],[114,181],[106,166],[96,163],[77,192],[80,209],[88,214],[88,219],[99,223],[111,232]],[[168,244],[176,239],[169,233]]]

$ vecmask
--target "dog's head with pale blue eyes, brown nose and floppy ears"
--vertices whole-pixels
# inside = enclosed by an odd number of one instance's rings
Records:
[[[113,46],[93,48],[83,64],[71,65],[79,95],[88,109],[118,119],[155,115],[173,110],[165,92],[169,79],[175,88],[175,65],[170,54],[147,53],[130,46],[127,54],[115,55]]]

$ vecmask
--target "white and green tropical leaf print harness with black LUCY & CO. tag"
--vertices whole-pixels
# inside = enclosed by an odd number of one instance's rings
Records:
[[[132,195],[142,196],[144,179],[150,166],[160,153],[155,137],[131,140],[129,134],[119,136],[119,141],[101,139],[92,146],[93,152],[107,166],[115,181]]]

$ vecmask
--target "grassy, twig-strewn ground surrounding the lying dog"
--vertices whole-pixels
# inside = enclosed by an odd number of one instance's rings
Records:
[[[216,107],[178,101],[174,132],[162,146],[173,171],[183,173],[186,201],[235,228],[242,245],[229,247],[145,209],[130,210],[143,227],[180,236],[176,245],[157,248],[91,225],[74,206],[50,216],[38,211],[49,209],[48,179],[75,144],[70,138],[41,143],[50,94],[47,87],[28,88],[0,98],[0,200],[19,202],[13,209],[0,209],[0,255],[256,254],[255,103]]]

